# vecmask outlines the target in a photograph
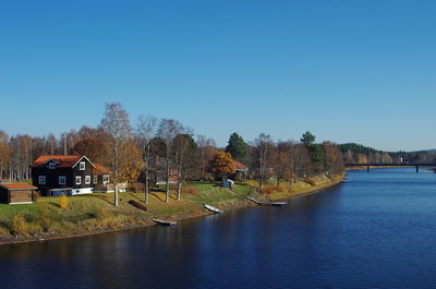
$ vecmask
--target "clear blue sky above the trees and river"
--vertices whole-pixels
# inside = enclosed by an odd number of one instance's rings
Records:
[[[2,1],[0,130],[97,125],[105,103],[225,145],[436,147],[436,1]]]

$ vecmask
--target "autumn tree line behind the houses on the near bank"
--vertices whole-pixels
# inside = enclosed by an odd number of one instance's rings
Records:
[[[144,183],[148,202],[152,174],[165,180],[169,202],[171,180],[181,198],[186,180],[216,180],[235,172],[237,164],[250,167],[249,177],[266,182],[295,182],[315,174],[336,174],[343,170],[343,156],[331,142],[316,143],[306,132],[300,142],[274,141],[261,133],[245,142],[238,133],[228,146],[219,148],[213,139],[195,135],[193,129],[173,119],[140,116],[131,123],[120,103],[107,104],[99,125],[70,130],[59,137],[7,135],[0,131],[0,179],[31,177],[29,164],[40,155],[86,155],[112,171],[113,182]],[[237,162],[235,162],[237,161]]]

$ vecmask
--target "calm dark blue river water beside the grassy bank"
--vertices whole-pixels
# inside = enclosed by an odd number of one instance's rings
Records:
[[[287,208],[2,245],[0,287],[436,288],[435,241],[435,173],[351,171]]]

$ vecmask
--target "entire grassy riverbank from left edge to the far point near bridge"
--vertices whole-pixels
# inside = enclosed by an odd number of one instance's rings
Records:
[[[59,197],[40,197],[29,205],[0,206],[0,244],[23,243],[66,239],[97,233],[113,232],[154,226],[155,217],[183,220],[202,217],[211,213],[204,204],[232,210],[256,206],[246,196],[259,200],[281,201],[313,193],[338,184],[344,174],[318,176],[300,180],[292,185],[267,185],[263,192],[255,190],[255,183],[247,182],[229,190],[216,183],[189,183],[182,200],[177,201],[172,192],[170,202],[165,202],[162,191],[153,191],[147,210],[131,205],[132,201],[142,202],[143,193],[120,193],[120,205],[112,205],[113,194],[92,194],[68,197],[68,206],[61,208]]]

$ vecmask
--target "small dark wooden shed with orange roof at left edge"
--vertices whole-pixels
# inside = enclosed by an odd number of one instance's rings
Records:
[[[4,204],[31,204],[37,188],[28,183],[0,183],[0,202]]]

